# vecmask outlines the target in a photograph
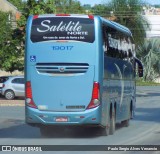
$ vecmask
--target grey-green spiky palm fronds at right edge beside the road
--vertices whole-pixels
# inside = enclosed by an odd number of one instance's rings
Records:
[[[153,81],[160,74],[160,40],[146,39],[139,48],[138,56],[144,65],[144,80]]]

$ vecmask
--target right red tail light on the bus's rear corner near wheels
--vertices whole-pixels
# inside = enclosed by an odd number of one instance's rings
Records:
[[[87,109],[95,108],[100,105],[100,94],[99,94],[100,86],[98,82],[94,82],[93,84],[93,91],[92,91],[92,98],[87,107]]]

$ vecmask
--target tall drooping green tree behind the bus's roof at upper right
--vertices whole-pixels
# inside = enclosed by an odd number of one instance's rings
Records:
[[[142,45],[146,37],[148,21],[141,15],[143,12],[141,0],[111,0],[106,3],[106,14],[112,12],[114,20],[128,27],[138,47]]]

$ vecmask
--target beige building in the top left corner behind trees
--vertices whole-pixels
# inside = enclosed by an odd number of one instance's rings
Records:
[[[8,21],[12,23],[13,29],[16,28],[17,20],[20,19],[21,12],[7,0],[0,0],[0,11],[9,12]]]

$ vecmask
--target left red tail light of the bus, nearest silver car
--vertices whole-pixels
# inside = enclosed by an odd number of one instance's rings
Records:
[[[37,106],[35,105],[34,101],[33,101],[33,97],[32,97],[32,87],[31,87],[31,82],[27,81],[26,82],[26,103],[27,106],[32,107],[32,108],[37,108]]]

